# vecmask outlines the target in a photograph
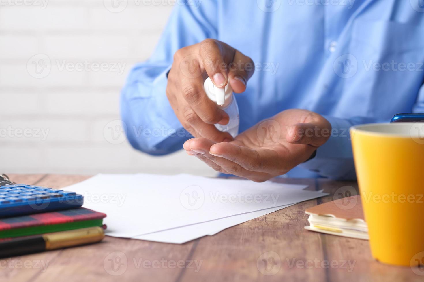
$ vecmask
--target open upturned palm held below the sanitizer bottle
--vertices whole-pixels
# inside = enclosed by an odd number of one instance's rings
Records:
[[[330,133],[331,125],[323,116],[286,110],[259,122],[234,141],[195,138],[187,140],[184,149],[219,172],[262,182],[309,159]]]

